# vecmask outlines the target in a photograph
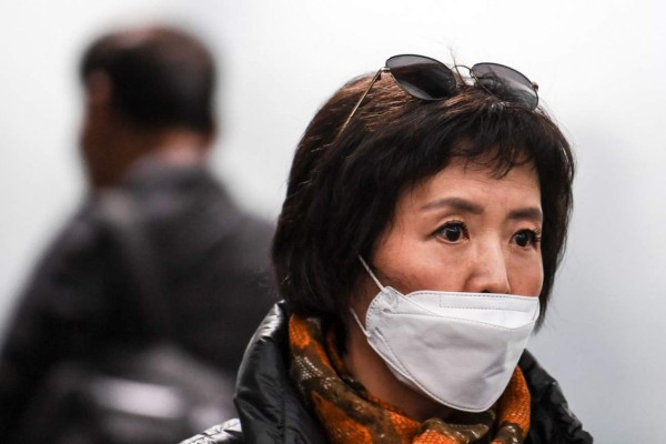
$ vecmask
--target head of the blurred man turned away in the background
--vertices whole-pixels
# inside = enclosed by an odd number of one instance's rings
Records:
[[[214,61],[188,33],[153,27],[102,36],[85,50],[80,75],[81,144],[93,186],[114,184],[150,151],[202,149],[214,134]]]

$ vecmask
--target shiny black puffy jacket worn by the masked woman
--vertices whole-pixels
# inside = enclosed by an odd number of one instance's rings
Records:
[[[325,443],[316,420],[301,403],[289,376],[287,316],[276,304],[254,334],[238,379],[239,420],[216,425],[181,444]],[[557,382],[525,352],[521,357],[532,395],[526,444],[586,444],[589,433],[568,410]]]

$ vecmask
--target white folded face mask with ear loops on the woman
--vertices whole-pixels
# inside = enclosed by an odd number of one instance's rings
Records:
[[[538,297],[380,287],[365,316],[367,342],[393,375],[452,408],[483,412],[500,398],[538,317]]]

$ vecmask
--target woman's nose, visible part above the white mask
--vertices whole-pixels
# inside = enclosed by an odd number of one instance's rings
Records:
[[[504,251],[498,245],[483,245],[468,264],[467,291],[473,293],[511,293]]]

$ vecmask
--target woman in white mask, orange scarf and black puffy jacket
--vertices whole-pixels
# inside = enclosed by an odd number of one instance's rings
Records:
[[[524,352],[574,173],[537,102],[511,68],[421,56],[340,89],[294,158],[240,422],[190,443],[592,442]]]

